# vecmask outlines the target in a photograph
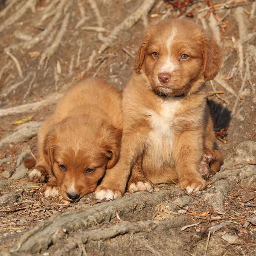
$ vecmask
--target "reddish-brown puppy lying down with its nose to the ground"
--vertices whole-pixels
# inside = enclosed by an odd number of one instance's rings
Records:
[[[41,127],[38,160],[29,178],[47,180],[47,197],[60,192],[64,199],[79,199],[93,192],[106,168],[115,165],[121,137],[119,90],[100,79],[80,81]]]

